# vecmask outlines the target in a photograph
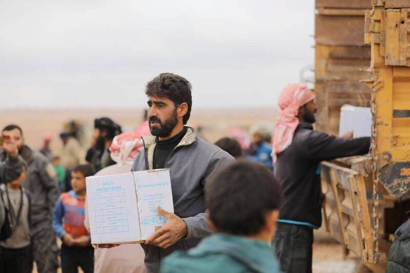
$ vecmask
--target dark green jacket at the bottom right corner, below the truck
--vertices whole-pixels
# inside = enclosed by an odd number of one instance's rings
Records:
[[[404,272],[410,272],[410,219],[395,232],[386,268],[386,273]]]

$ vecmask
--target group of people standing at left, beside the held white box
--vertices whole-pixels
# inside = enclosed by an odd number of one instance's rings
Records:
[[[110,150],[110,145],[120,130],[109,118],[95,119],[95,141],[87,158],[81,158],[79,142],[70,132],[60,133],[63,149],[59,156],[53,156],[50,135],[44,136],[42,147],[35,151],[25,143],[23,129],[18,125],[9,124],[3,128],[1,272],[31,272],[33,261],[38,272],[56,272],[60,266],[58,256],[61,267],[70,272],[74,267],[67,261],[76,261],[75,257],[84,261],[86,255],[73,253],[84,247],[91,248],[89,230],[83,223],[85,177],[115,163],[110,157],[114,151]],[[82,162],[88,163],[80,164]],[[60,249],[57,237],[63,242]],[[75,251],[70,252],[70,247]],[[93,252],[92,248],[88,250]],[[93,271],[93,260],[91,257],[86,265],[81,263],[86,266],[84,271]]]

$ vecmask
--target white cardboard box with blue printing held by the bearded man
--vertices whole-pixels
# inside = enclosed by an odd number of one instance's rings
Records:
[[[92,244],[142,243],[174,212],[169,169],[86,178]]]

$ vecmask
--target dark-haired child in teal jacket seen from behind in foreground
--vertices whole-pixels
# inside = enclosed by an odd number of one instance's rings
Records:
[[[270,243],[281,190],[267,167],[240,159],[206,185],[208,224],[216,232],[163,260],[170,272],[280,272]]]

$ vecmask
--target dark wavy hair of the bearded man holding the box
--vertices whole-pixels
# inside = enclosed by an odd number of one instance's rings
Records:
[[[186,102],[188,112],[183,116],[183,124],[187,124],[191,116],[192,97],[191,83],[184,77],[172,73],[161,73],[147,83],[145,94],[152,97],[166,97],[172,100],[175,107]]]

